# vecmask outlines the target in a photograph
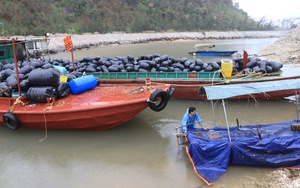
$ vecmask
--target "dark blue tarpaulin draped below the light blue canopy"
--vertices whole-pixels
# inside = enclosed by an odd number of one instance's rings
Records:
[[[195,171],[207,184],[226,172],[227,166],[300,168],[300,132],[296,120],[272,124],[189,129],[187,153]],[[260,133],[260,136],[259,136]]]

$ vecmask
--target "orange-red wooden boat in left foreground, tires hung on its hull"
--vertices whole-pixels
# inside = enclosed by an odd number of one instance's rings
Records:
[[[139,84],[97,86],[95,78],[90,76],[94,78],[93,87],[86,85],[83,80],[78,82],[81,84],[80,89],[75,87],[76,90],[84,89],[83,92],[77,90],[75,94],[64,98],[51,97],[46,98],[47,103],[34,103],[29,97],[22,97],[20,89],[16,53],[19,41],[12,39],[8,42],[10,45],[3,50],[13,52],[19,97],[0,97],[0,124],[13,130],[20,127],[45,130],[109,129],[129,121],[147,107],[157,112],[163,110],[174,93],[170,85],[151,84],[148,78]],[[37,93],[33,96],[34,99],[42,97]]]

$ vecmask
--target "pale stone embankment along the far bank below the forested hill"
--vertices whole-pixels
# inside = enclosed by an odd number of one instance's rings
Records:
[[[238,39],[238,38],[277,38],[286,31],[228,31],[228,32],[176,32],[176,33],[109,33],[71,35],[74,49],[104,47],[109,45],[148,43],[156,41]],[[51,52],[65,51],[63,38],[67,34],[51,35]]]

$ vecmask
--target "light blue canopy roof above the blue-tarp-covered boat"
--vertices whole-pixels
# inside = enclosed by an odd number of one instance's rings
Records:
[[[199,95],[206,95],[207,100],[228,99],[241,95],[252,95],[272,91],[282,91],[300,88],[300,79],[289,79],[269,82],[256,82],[246,84],[227,84],[203,86]]]

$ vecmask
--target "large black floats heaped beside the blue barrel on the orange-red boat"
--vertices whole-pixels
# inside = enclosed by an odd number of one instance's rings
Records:
[[[27,71],[29,70],[27,66],[24,67]],[[70,94],[68,83],[60,82],[60,72],[54,68],[30,69],[30,72],[26,74],[21,68],[19,79],[21,91],[26,93],[26,96],[32,102],[52,102],[57,98],[63,98]],[[0,96],[12,97],[13,92],[18,91],[17,83],[14,69],[4,68],[1,71]]]

